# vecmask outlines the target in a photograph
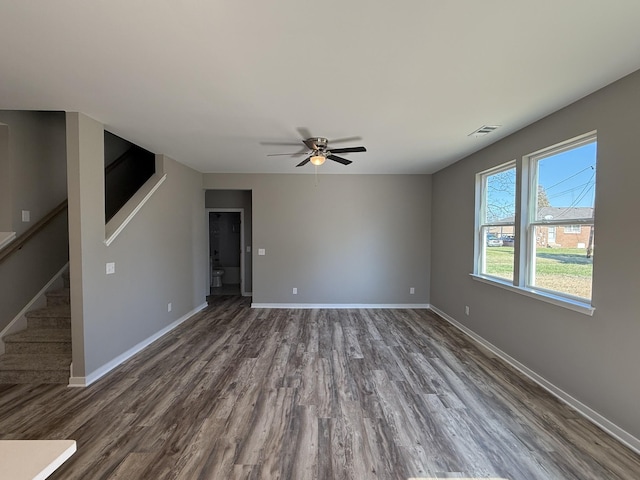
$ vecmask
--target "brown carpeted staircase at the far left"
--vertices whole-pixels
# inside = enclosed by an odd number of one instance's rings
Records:
[[[26,313],[27,328],[7,335],[0,355],[0,383],[69,382],[71,308],[69,283],[48,292],[47,306]]]

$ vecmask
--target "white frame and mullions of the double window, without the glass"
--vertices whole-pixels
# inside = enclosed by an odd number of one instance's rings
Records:
[[[595,142],[597,144],[597,140],[597,131],[594,130],[555,145],[542,148],[523,156],[521,159],[511,160],[476,174],[474,268],[471,274],[473,279],[506,288],[516,293],[537,298],[580,313],[593,315],[595,310],[593,306],[593,293],[590,299],[577,297],[564,292],[536,286],[533,279],[535,278],[536,271],[536,227],[556,227],[556,233],[558,227],[566,227],[569,225],[580,225],[580,227],[589,225],[591,228],[595,228],[595,204],[594,215],[593,218],[590,219],[535,219],[538,198],[537,162],[590,143]],[[490,222],[483,223],[483,219],[486,219],[486,179],[492,174],[513,168],[514,165],[516,168],[516,212],[514,222],[508,223],[508,225],[513,225],[515,234],[514,275],[513,281],[509,281],[504,277],[482,273],[486,268],[486,264],[484,263],[486,259],[483,258],[485,254],[482,245],[482,232],[483,227],[494,225],[494,223]],[[502,223],[502,225],[505,224],[504,222],[498,222],[497,224],[500,223]],[[486,251],[486,246],[484,246],[484,249]],[[594,276],[595,269],[591,276],[592,284]]]

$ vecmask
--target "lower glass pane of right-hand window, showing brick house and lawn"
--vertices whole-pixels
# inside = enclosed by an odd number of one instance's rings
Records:
[[[536,226],[535,268],[529,286],[590,299],[593,233],[593,225],[581,225],[580,234],[567,235],[561,226]]]

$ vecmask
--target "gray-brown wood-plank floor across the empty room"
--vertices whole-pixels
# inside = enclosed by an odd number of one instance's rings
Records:
[[[640,478],[428,311],[249,301],[220,297],[88,388],[0,386],[0,438],[77,440],[52,479]]]

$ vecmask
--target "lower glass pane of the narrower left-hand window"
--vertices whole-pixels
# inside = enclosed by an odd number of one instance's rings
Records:
[[[483,228],[483,257],[485,275],[513,281],[513,226]]]

